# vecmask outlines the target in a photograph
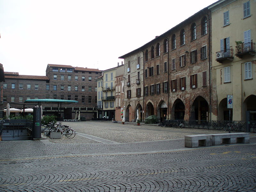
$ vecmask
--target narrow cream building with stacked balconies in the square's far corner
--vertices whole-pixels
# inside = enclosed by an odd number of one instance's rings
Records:
[[[124,74],[124,65],[117,65],[117,67],[110,68],[102,71],[103,76],[95,79],[97,82],[97,109],[98,118],[115,119],[116,105],[116,76]],[[121,81],[121,80],[120,80]],[[119,92],[119,87],[117,86],[117,94]],[[121,88],[120,88],[121,90]]]

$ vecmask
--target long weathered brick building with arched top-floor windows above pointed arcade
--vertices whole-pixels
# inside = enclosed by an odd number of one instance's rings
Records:
[[[125,110],[129,121],[136,119],[138,104],[140,111],[144,111],[143,119],[157,115],[159,120],[211,120],[211,116],[216,116],[216,98],[212,97],[211,89],[211,41],[211,16],[204,8],[139,49],[119,57],[124,59]],[[138,72],[143,78],[141,83],[128,84],[129,75],[135,80]]]

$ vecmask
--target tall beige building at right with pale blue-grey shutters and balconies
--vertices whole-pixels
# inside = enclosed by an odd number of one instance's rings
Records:
[[[256,120],[256,1],[220,0],[212,12],[212,80],[218,116],[212,120]],[[227,95],[231,95],[227,100]],[[233,96],[233,100],[232,100]],[[227,103],[228,102],[228,103]],[[232,107],[233,108],[228,108]]]

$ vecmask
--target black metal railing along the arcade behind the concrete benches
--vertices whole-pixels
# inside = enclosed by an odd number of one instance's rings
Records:
[[[180,124],[183,123],[183,128],[188,129],[204,129],[204,130],[216,130],[216,131],[225,131],[225,127],[228,123],[235,124],[237,126],[237,132],[246,132],[246,122],[245,121],[203,121],[203,120],[164,120],[167,121],[167,127],[172,127],[174,123]],[[254,131],[256,131],[256,122],[255,122]],[[252,130],[251,130],[252,132]]]

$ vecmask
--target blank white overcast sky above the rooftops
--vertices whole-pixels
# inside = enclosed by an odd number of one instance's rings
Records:
[[[47,64],[112,68],[216,1],[0,0],[0,63],[39,76]]]

